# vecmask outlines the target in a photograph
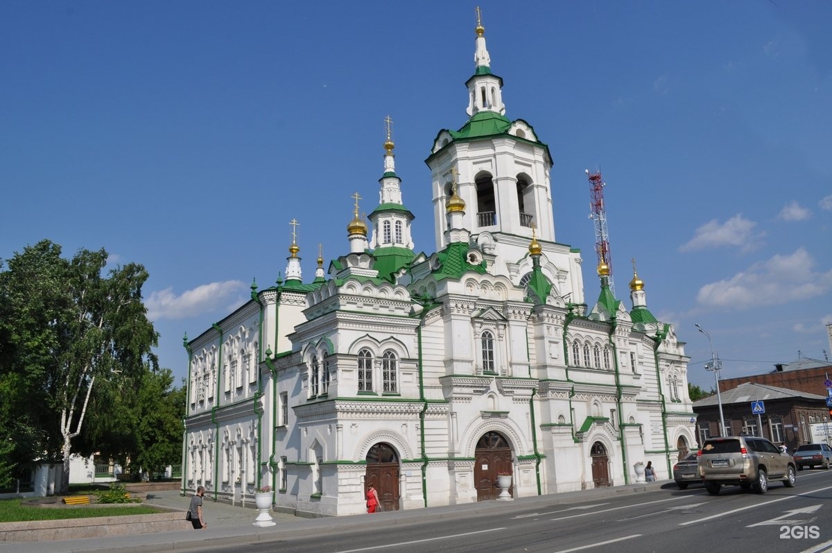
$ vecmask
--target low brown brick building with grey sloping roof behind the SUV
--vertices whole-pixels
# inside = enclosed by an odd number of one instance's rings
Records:
[[[823,381],[820,384],[822,386]],[[768,438],[777,445],[785,444],[789,451],[795,451],[800,444],[812,441],[810,425],[825,421],[829,416],[825,396],[748,381],[721,391],[721,399],[726,424],[724,433],[719,431],[716,394],[693,404],[697,416],[696,437],[700,444],[710,436],[737,436],[745,432]],[[765,413],[759,417],[752,414],[752,401],[763,401]]]

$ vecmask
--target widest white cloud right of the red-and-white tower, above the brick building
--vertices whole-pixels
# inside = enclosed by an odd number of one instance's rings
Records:
[[[786,256],[776,255],[755,263],[729,279],[699,289],[702,306],[747,309],[801,301],[832,290],[832,270],[815,272],[815,260],[800,247]]]

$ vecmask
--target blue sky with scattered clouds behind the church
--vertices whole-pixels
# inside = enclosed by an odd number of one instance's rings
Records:
[[[830,2],[480,2],[507,117],[552,152],[558,242],[596,296],[585,169],[689,380],[822,359],[832,322]],[[253,278],[305,280],[378,202],[384,117],[433,252],[424,159],[466,121],[475,3],[0,2],[0,258],[42,238],[150,272],[164,366]],[[594,291],[593,291],[594,290]],[[823,384],[819,382],[820,393]]]

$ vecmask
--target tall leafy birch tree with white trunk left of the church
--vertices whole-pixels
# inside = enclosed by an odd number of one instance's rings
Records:
[[[147,272],[129,263],[105,274],[106,260],[104,249],[65,260],[44,240],[16,252],[0,272],[0,386],[17,386],[0,415],[25,415],[43,432],[47,460],[63,462],[62,492],[91,401],[137,390],[141,376],[158,368],[157,334],[141,301]]]

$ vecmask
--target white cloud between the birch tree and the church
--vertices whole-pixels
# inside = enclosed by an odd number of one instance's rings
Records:
[[[196,286],[193,290],[186,290],[176,296],[173,288],[151,292],[145,301],[147,318],[151,321],[159,319],[186,319],[203,313],[210,313],[224,309],[233,296],[245,290],[242,281],[211,282]]]

